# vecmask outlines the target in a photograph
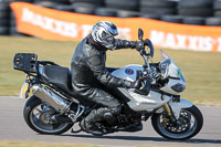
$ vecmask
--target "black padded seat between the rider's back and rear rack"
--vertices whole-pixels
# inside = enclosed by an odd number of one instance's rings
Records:
[[[59,88],[65,92],[72,91],[72,73],[67,67],[45,65],[43,66],[43,76]]]

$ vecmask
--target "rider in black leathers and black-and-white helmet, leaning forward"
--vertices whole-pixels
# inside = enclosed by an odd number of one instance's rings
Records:
[[[80,126],[87,133],[102,135],[95,123],[115,118],[122,106],[117,98],[102,90],[102,84],[109,87],[140,88],[139,81],[130,82],[110,75],[105,69],[106,51],[117,49],[135,49],[144,45],[141,41],[115,39],[117,27],[108,21],[97,22],[92,33],[77,45],[72,57],[72,85],[76,93],[103,107],[93,109]],[[98,81],[99,84],[96,84]]]

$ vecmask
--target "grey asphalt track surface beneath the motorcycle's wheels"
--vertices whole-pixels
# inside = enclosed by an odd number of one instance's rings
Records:
[[[199,106],[204,117],[201,132],[185,141],[171,141],[159,136],[150,125],[144,123],[144,130],[138,133],[115,133],[102,137],[85,133],[63,135],[40,135],[30,129],[23,119],[25,99],[13,96],[0,96],[0,141],[43,141],[71,143],[105,146],[221,146],[221,107]]]

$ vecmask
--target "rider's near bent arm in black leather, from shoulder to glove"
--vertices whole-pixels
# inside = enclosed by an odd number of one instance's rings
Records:
[[[87,62],[91,71],[94,73],[94,76],[102,83],[110,87],[133,87],[133,82],[118,78],[110,75],[105,70],[105,63],[102,62],[102,56],[94,54],[90,56]]]

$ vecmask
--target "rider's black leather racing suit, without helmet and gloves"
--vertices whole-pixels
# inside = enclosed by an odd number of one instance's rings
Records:
[[[135,41],[115,40],[117,49],[134,49]],[[102,90],[101,84],[109,87],[130,87],[131,82],[110,75],[105,70],[106,51],[104,46],[95,43],[91,36],[86,36],[75,49],[72,57],[72,84],[77,94],[86,99],[102,104],[104,107],[92,111],[85,118],[92,123],[105,118],[106,113],[118,114],[120,112],[119,102]],[[108,117],[108,116],[107,116]]]

